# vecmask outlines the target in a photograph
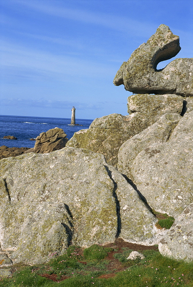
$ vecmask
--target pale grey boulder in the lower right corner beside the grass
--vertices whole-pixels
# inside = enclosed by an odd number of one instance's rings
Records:
[[[174,221],[158,248],[163,256],[193,260],[193,203]]]

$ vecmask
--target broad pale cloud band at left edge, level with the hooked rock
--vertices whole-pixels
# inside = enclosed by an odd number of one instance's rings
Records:
[[[49,77],[108,77],[114,70],[107,64],[70,57],[54,55],[49,52],[35,51],[20,45],[3,42],[1,64],[6,68],[30,70],[33,73]]]

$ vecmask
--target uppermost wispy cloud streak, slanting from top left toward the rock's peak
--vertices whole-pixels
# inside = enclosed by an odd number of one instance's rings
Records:
[[[131,17],[112,15],[110,13],[92,12],[83,9],[70,9],[57,5],[56,1],[23,1],[15,0],[16,3],[30,7],[51,16],[66,18],[69,20],[95,24],[113,30],[121,31],[129,35],[149,36],[150,31],[156,30],[157,26],[148,22],[133,20]]]

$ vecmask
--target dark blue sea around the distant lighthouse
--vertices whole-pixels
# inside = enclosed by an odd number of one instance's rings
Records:
[[[35,141],[30,141],[30,138],[36,138],[43,131],[55,127],[63,129],[67,138],[70,139],[76,131],[88,129],[93,120],[76,119],[76,124],[83,125],[82,127],[68,125],[70,121],[71,119],[62,118],[0,115],[0,146],[33,148]],[[3,139],[4,135],[14,135],[17,140]]]

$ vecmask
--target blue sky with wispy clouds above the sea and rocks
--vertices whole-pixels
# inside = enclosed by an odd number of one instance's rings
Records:
[[[176,58],[193,57],[193,0],[1,0],[0,6],[1,115],[70,118],[72,106],[82,119],[127,115],[131,93],[114,86],[114,76],[160,24],[180,37]]]

